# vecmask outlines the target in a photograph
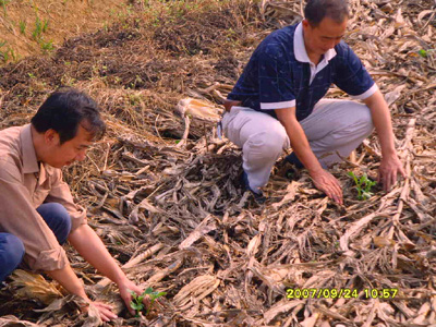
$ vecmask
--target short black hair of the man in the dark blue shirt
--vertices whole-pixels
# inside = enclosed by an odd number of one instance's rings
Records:
[[[329,17],[337,23],[342,23],[350,17],[347,0],[308,0],[304,8],[304,16],[308,23],[316,27]]]

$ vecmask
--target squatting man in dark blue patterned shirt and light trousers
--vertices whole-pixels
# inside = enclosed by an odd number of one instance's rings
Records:
[[[252,55],[226,102],[227,137],[242,147],[243,180],[256,198],[282,149],[304,166],[317,189],[339,204],[342,190],[326,168],[349,156],[374,126],[382,145],[385,190],[404,175],[388,106],[360,59],[341,39],[346,0],[308,0],[305,19],[271,33]],[[336,84],[353,100],[322,99]]]

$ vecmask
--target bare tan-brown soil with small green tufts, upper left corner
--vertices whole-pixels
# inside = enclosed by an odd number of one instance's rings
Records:
[[[51,48],[44,49],[50,43],[56,49],[65,39],[110,26],[131,11],[128,1],[116,0],[2,0],[0,3],[0,45],[3,44],[0,52],[9,61],[50,52]]]

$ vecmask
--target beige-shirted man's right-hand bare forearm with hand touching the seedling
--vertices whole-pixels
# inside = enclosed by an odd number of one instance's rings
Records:
[[[128,279],[96,232],[88,225],[81,225],[70,233],[69,241],[89,264],[118,284],[128,310],[134,314],[130,306],[132,301],[130,290],[137,294],[141,294],[143,290]]]

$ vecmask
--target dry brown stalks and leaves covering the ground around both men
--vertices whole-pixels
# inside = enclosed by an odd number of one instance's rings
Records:
[[[299,21],[301,1],[186,2],[157,11],[153,21],[70,39],[52,58],[1,69],[1,128],[26,122],[59,84],[101,104],[109,134],[65,175],[126,274],[168,292],[166,310],[143,319],[146,326],[435,324],[435,2],[351,4],[346,39],[390,105],[407,178],[388,194],[376,189],[368,201],[355,199],[347,172],[376,177],[380,149],[372,137],[355,160],[332,170],[344,189],[343,207],[305,171],[290,181],[283,162],[266,187],[268,202],[255,205],[239,183],[240,150],[214,134],[220,100],[254,47]],[[330,96],[344,95],[332,88]],[[178,107],[186,97],[215,107]],[[141,325],[109,292],[112,284],[69,255],[88,291],[119,307],[114,325]],[[77,318],[70,298],[29,311],[44,306],[21,299],[16,288],[1,291],[0,313],[22,322],[3,316],[0,326],[96,324]],[[288,288],[356,291],[351,299],[288,300]],[[383,289],[390,291],[365,291]]]

